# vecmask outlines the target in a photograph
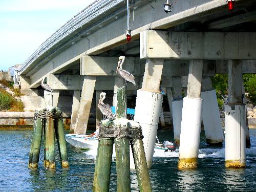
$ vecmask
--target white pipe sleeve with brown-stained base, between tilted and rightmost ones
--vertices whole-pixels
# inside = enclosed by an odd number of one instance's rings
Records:
[[[183,98],[179,169],[197,168],[202,99]]]

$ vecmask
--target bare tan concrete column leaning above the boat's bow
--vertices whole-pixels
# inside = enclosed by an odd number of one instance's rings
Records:
[[[96,76],[84,76],[74,134],[85,134],[91,110]]]

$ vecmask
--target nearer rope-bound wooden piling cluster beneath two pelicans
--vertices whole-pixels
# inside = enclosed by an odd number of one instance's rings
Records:
[[[117,90],[116,119],[100,122],[93,191],[109,191],[113,144],[117,191],[131,191],[130,143],[140,191],[152,191],[139,123],[126,119],[126,86]]]

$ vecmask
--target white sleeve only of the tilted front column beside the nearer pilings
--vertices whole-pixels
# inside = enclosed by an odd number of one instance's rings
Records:
[[[159,92],[137,91],[134,120],[142,127],[144,150],[147,167],[152,165],[157,127],[162,106],[163,95]]]

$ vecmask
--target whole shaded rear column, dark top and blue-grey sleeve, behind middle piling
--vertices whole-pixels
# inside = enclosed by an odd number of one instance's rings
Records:
[[[180,127],[182,115],[182,86],[181,77],[173,77],[173,125],[174,125],[174,140],[176,144],[180,144]]]

